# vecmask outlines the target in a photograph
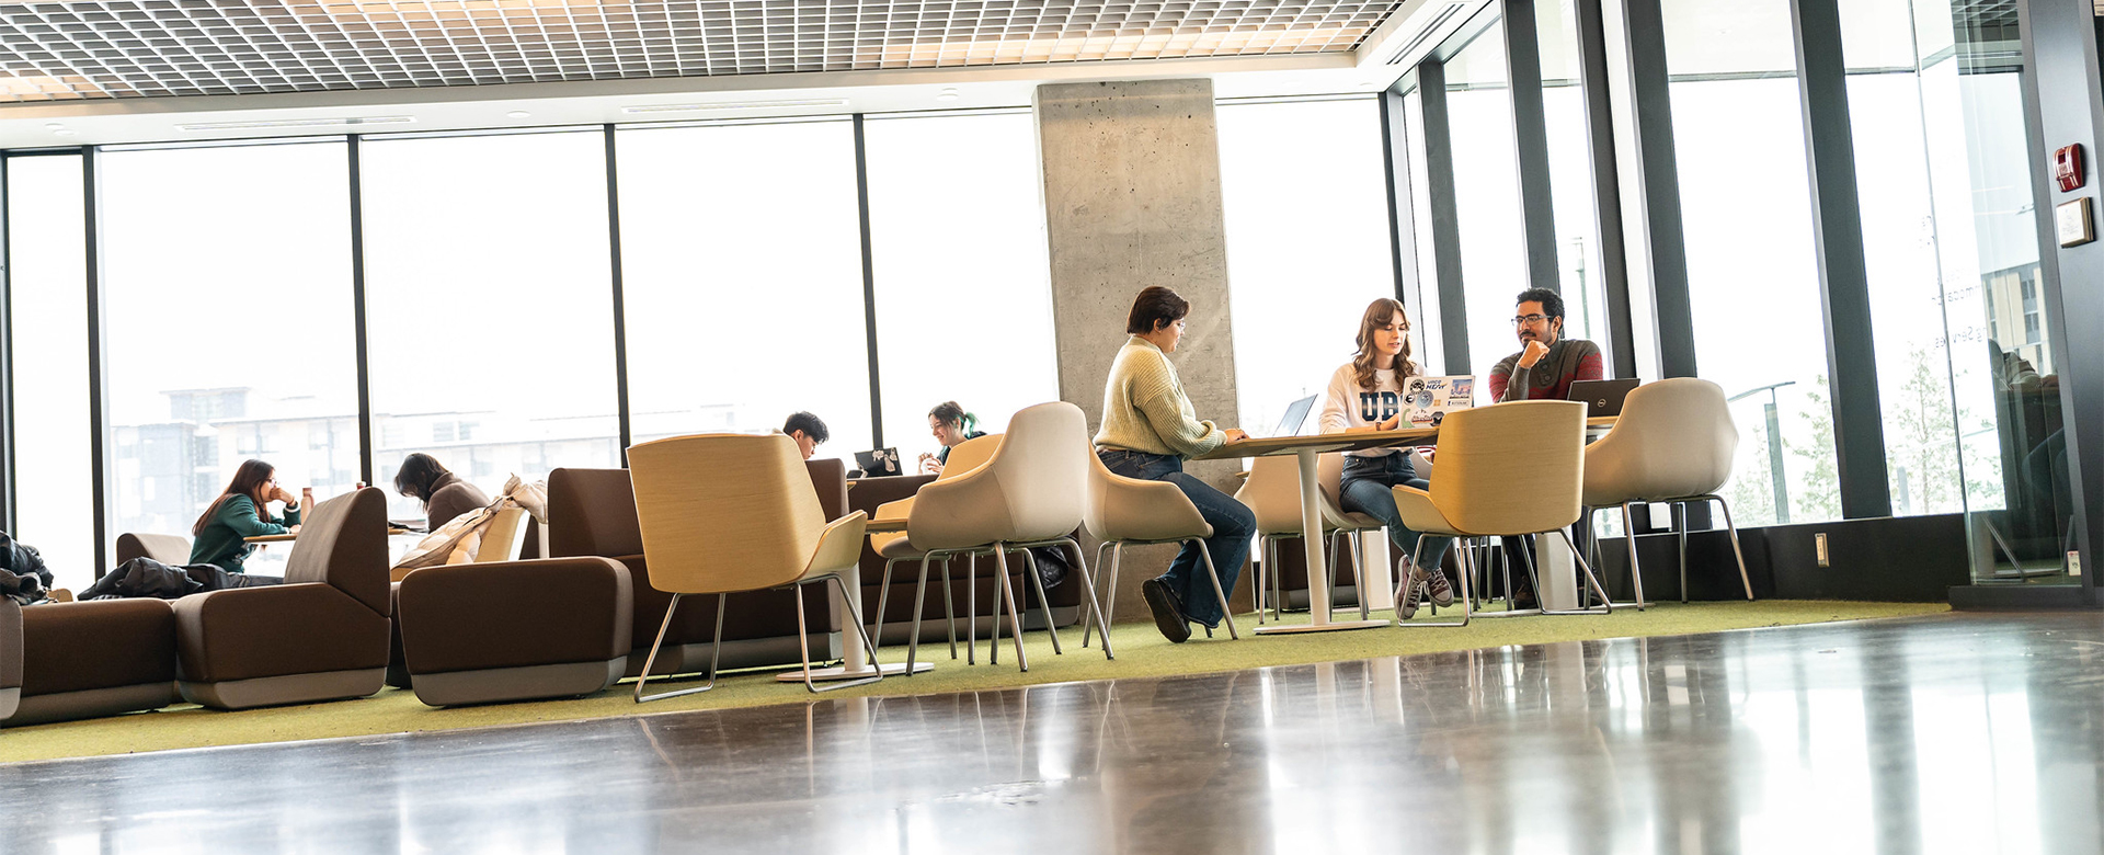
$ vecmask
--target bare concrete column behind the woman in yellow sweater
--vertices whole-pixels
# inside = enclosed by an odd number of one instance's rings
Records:
[[[1046,84],[1035,114],[1060,400],[1079,404],[1092,432],[1102,423],[1102,385],[1126,341],[1132,297],[1164,284],[1191,301],[1172,356],[1185,392],[1199,419],[1235,428],[1212,80]],[[1225,493],[1235,493],[1235,461],[1189,465]],[[1168,569],[1172,554],[1126,552],[1117,619],[1147,619],[1138,583]]]

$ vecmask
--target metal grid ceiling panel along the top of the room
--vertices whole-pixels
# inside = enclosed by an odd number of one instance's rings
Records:
[[[1351,51],[1401,0],[0,4],[0,101]]]

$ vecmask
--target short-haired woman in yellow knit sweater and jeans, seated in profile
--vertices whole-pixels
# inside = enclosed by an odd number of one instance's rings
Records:
[[[1130,337],[1111,362],[1111,381],[1102,390],[1096,455],[1111,472],[1166,480],[1191,497],[1199,516],[1212,524],[1212,537],[1203,543],[1220,575],[1220,590],[1231,592],[1243,558],[1250,556],[1256,514],[1231,495],[1185,474],[1182,461],[1222,442],[1241,442],[1246,436],[1239,430],[1214,428],[1212,421],[1197,421],[1191,398],[1182,392],[1182,379],[1176,377],[1168,354],[1176,352],[1189,314],[1191,303],[1161,286],[1140,291],[1132,301],[1132,314],[1126,318]],[[1191,621],[1212,630],[1225,617],[1203,573],[1203,558],[1185,543],[1168,573],[1140,583],[1147,609],[1155,613],[1155,628],[1172,642],[1191,638]]]

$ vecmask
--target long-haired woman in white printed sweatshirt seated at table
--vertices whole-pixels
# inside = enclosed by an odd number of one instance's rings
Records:
[[[1418,364],[1410,360],[1410,316],[1403,312],[1403,303],[1387,297],[1376,299],[1365,307],[1359,337],[1353,341],[1359,345],[1359,356],[1338,366],[1336,375],[1330,377],[1321,432],[1399,428],[1408,411],[1403,381],[1418,373]],[[1424,535],[1403,526],[1401,514],[1395,512],[1395,484],[1429,486],[1410,465],[1405,449],[1344,453],[1344,482],[1338,491],[1342,493],[1338,503],[1347,512],[1368,514],[1389,526],[1389,541],[1401,552],[1395,575],[1410,579],[1403,585],[1403,602],[1395,611],[1397,617],[1410,619],[1418,611],[1420,598],[1431,596],[1433,602],[1445,607],[1454,602],[1454,590],[1448,585],[1445,573],[1427,573],[1410,564],[1410,556],[1418,552],[1418,539]],[[1450,543],[1448,537],[1433,537],[1424,543],[1418,560],[1437,569]]]

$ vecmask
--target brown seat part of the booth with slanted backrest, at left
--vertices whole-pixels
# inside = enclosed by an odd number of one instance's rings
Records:
[[[238,588],[175,600],[183,680],[387,668],[389,619],[326,583]]]

